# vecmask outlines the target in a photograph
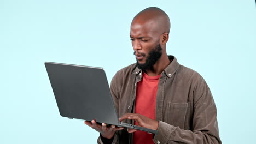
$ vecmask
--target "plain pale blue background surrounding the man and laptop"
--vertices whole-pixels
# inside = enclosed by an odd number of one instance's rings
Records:
[[[223,143],[256,137],[255,1],[0,1],[0,143],[96,143],[59,115],[45,61],[103,67],[108,81],[135,62],[130,23],[159,7],[171,19],[168,55],[211,88]]]

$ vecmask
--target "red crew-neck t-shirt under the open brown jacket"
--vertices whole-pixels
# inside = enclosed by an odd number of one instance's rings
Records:
[[[137,83],[135,113],[155,119],[155,100],[160,76],[148,76],[142,73],[142,80]],[[136,121],[135,125],[138,125]],[[154,143],[153,134],[137,130],[133,134],[133,143]]]

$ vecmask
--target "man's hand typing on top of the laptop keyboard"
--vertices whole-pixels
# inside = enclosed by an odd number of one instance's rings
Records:
[[[124,119],[132,119],[138,123],[139,127],[144,127],[148,129],[158,130],[159,122],[154,119],[148,118],[146,116],[137,114],[137,113],[125,113],[123,116],[119,118],[119,121],[123,121]],[[135,129],[128,129],[129,133],[133,133],[136,131]]]

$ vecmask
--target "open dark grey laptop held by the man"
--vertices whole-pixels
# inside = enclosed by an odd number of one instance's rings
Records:
[[[158,133],[119,122],[103,68],[53,62],[45,62],[45,67],[62,117]]]

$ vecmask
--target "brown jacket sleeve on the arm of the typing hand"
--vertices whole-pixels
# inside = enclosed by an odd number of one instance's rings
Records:
[[[154,143],[222,143],[219,138],[217,110],[210,89],[199,75],[194,88],[194,115],[191,130],[159,121]]]

